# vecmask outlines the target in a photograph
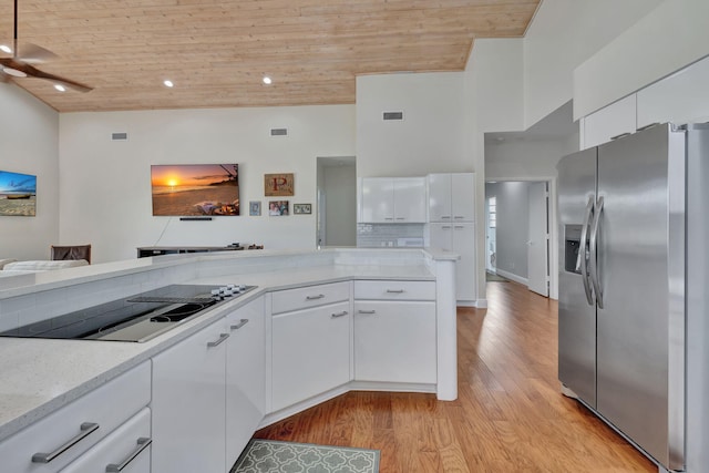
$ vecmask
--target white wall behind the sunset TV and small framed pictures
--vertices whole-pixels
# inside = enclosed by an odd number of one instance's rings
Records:
[[[287,137],[271,137],[287,127]],[[112,141],[111,133],[129,140]],[[354,155],[352,105],[66,113],[60,116],[60,239],[91,243],[96,263],[134,258],[135,247],[316,244],[317,156]],[[212,222],[153,217],[151,164],[238,163],[242,215]],[[294,173],[311,215],[269,217],[265,173]],[[261,216],[248,202],[261,200]]]

